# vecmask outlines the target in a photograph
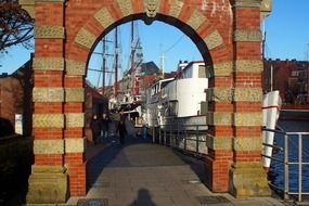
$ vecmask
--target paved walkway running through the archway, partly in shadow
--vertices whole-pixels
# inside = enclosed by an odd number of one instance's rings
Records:
[[[128,138],[125,146],[111,138],[89,151],[89,192],[67,205],[87,205],[85,198],[88,205],[108,206],[282,205],[271,197],[235,199],[211,193],[203,184],[201,160],[141,138]]]

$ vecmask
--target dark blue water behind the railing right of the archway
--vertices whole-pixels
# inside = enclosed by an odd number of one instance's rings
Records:
[[[309,121],[281,120],[278,125],[287,132],[309,132]],[[275,134],[278,146],[284,146],[283,134]],[[273,157],[283,160],[284,152],[273,153]],[[288,162],[298,162],[298,136],[288,138]],[[302,136],[302,162],[309,163],[309,136]],[[291,192],[298,192],[298,165],[291,165],[288,169],[288,186]],[[302,192],[309,192],[309,165],[302,165]],[[279,162],[271,162],[270,180],[280,189],[284,188],[284,165]]]

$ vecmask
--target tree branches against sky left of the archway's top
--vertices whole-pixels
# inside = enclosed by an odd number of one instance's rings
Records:
[[[34,18],[17,0],[0,0],[0,52],[15,44],[33,48]]]

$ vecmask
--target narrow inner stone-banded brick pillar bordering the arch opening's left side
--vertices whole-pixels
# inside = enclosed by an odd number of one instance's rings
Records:
[[[66,117],[65,165],[68,167],[69,195],[86,195],[85,150],[85,68],[86,64],[74,60],[66,61],[65,104]]]

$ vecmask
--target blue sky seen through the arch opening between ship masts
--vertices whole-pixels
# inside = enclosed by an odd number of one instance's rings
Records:
[[[165,69],[166,72],[175,70],[178,62],[181,61],[196,61],[202,60],[202,55],[191,39],[185,36],[178,28],[167,25],[163,22],[154,22],[151,26],[144,25],[142,21],[137,21],[134,26],[136,34],[141,38],[141,46],[143,48],[144,62],[153,61],[160,68],[162,66],[162,53],[165,54]],[[131,23],[119,26],[120,38],[120,69],[119,76],[123,72],[129,67],[130,55],[130,29]],[[115,31],[112,30],[106,35],[108,40],[114,41]],[[107,53],[114,53],[114,43],[107,44]],[[102,42],[98,44],[95,52],[102,52]],[[107,59],[107,67],[111,69],[113,64],[113,57]],[[92,54],[90,59],[90,68],[101,68],[102,56]],[[100,69],[99,68],[99,69]],[[90,79],[94,86],[101,82],[101,77],[98,76],[98,72],[88,72],[88,79]],[[114,79],[114,77],[112,77]],[[106,75],[106,82],[110,82],[110,74]],[[112,81],[113,82],[113,81]]]

